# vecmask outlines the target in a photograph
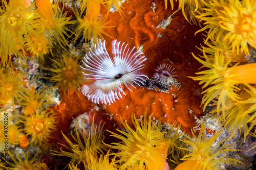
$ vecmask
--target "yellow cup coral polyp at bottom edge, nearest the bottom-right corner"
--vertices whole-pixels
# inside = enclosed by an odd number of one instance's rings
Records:
[[[180,148],[190,153],[185,155],[182,160],[186,160],[185,162],[179,164],[175,170],[217,170],[222,169],[220,164],[222,163],[230,163],[237,164],[237,162],[242,163],[236,159],[226,158],[226,155],[223,155],[230,151],[238,151],[232,149],[233,147],[229,147],[230,144],[223,144],[226,137],[222,141],[218,142],[214,146],[215,140],[219,137],[222,131],[214,134],[213,136],[206,138],[204,125],[202,124],[200,133],[196,136],[193,131],[193,138],[185,135],[187,137],[186,140],[182,140],[186,144],[189,145],[190,148]],[[223,156],[220,156],[223,155]]]

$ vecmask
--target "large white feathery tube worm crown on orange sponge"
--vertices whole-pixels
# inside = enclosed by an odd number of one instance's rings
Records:
[[[92,82],[82,86],[81,91],[84,96],[94,103],[110,104],[115,99],[122,98],[123,92],[121,84],[129,90],[129,85],[136,88],[133,83],[144,85],[147,76],[140,71],[146,57],[141,50],[136,47],[128,48],[127,43],[112,41],[113,59],[106,51],[105,41],[95,45],[83,58],[84,79]],[[143,55],[143,56],[142,56]],[[132,91],[132,90],[131,90]]]

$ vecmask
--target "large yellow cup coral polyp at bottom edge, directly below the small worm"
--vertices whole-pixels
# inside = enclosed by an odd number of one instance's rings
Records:
[[[148,120],[145,115],[139,124],[133,114],[132,121],[136,130],[129,127],[126,122],[122,122],[128,133],[117,130],[122,134],[118,135],[109,131],[113,134],[112,136],[122,140],[121,143],[112,143],[114,145],[107,144],[109,147],[119,150],[118,153],[110,154],[120,158],[117,161],[121,163],[119,169],[135,169],[134,167],[143,169],[144,166],[149,170],[169,169],[166,157],[170,140],[164,138],[164,132],[160,131],[160,124],[156,125],[152,122],[152,115]]]

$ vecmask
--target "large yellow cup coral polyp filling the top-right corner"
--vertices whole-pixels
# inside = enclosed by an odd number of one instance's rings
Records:
[[[206,41],[210,37],[216,41],[227,40],[232,51],[237,51],[237,54],[249,54],[248,44],[256,47],[256,1],[202,2],[207,6],[205,13],[202,12],[196,17],[205,21],[206,26],[197,32],[209,29]]]

